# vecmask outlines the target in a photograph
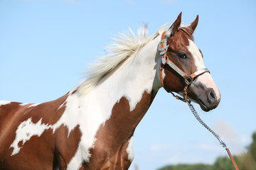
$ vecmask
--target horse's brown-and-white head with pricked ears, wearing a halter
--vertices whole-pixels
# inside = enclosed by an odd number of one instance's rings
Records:
[[[220,103],[220,92],[203,63],[203,54],[193,41],[198,16],[189,26],[181,25],[181,13],[159,45],[162,55],[161,83],[166,91],[174,91],[210,111]],[[184,91],[184,88],[186,89]],[[183,92],[184,91],[184,92]],[[186,94],[187,91],[187,95]]]

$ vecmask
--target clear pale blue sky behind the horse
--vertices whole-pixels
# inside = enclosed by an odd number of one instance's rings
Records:
[[[1,0],[0,100],[41,103],[82,81],[88,64],[117,33],[148,23],[149,34],[199,15],[194,34],[222,99],[201,118],[240,154],[256,131],[256,1]],[[166,164],[213,163],[225,150],[193,118],[186,104],[164,89],[134,134],[139,169]]]

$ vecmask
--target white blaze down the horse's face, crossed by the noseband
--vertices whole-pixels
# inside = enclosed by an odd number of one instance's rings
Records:
[[[196,46],[195,42],[193,40],[188,40],[188,51],[191,52],[191,55],[195,61],[196,70],[206,68],[205,64],[203,63],[203,56]],[[202,74],[197,78],[197,81],[201,81],[202,84],[206,85],[207,88],[212,88],[215,91],[217,100],[220,100],[220,91],[218,90],[215,82],[213,81],[213,78],[210,76],[208,72]]]

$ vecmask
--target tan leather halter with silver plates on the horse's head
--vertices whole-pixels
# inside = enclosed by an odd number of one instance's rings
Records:
[[[181,30],[183,30],[181,28]],[[185,33],[186,30],[184,30]],[[204,74],[205,72],[210,73],[210,71],[206,68],[203,69],[198,69],[196,72],[194,72],[193,74],[186,74],[185,72],[183,72],[180,68],[178,68],[176,66],[176,64],[174,64],[174,62],[171,62],[171,60],[169,60],[169,57],[167,56],[167,49],[168,49],[169,45],[167,45],[167,40],[166,40],[166,31],[164,31],[164,33],[162,33],[161,35],[161,41],[159,42],[159,51],[160,51],[160,55],[161,55],[161,65],[160,65],[160,80],[161,80],[161,84],[162,86],[164,86],[164,79],[163,79],[163,69],[164,69],[164,65],[168,64],[172,69],[174,69],[174,71],[176,71],[181,77],[183,77],[186,86],[183,89],[183,98],[181,98],[180,96],[176,96],[174,95],[174,93],[172,91],[170,91],[170,93],[177,98],[178,100],[187,101],[187,89],[188,86],[193,82],[193,80],[200,76],[201,74]]]

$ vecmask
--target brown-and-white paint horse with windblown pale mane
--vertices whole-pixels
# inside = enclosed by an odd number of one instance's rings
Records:
[[[134,130],[161,87],[183,95],[187,86],[188,98],[203,111],[216,108],[220,92],[209,72],[186,84],[166,64],[187,75],[205,70],[192,36],[197,24],[198,16],[183,25],[180,13],[170,28],[148,37],[146,27],[119,35],[87,79],[55,101],[1,101],[0,169],[128,169]]]

